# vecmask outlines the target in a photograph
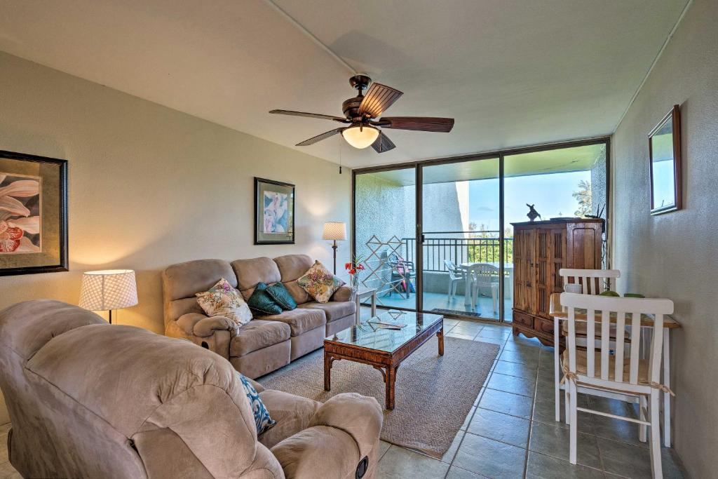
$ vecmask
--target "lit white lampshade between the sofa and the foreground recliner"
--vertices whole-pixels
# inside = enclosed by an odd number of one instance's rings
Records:
[[[131,269],[86,271],[80,307],[90,311],[119,310],[137,304],[137,283]]]

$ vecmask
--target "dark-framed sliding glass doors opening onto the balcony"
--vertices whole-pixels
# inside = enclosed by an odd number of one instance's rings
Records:
[[[511,223],[527,205],[607,220],[608,151],[597,139],[353,170],[360,285],[379,307],[511,321]]]

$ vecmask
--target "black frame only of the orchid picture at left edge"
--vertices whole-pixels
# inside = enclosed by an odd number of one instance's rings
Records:
[[[42,266],[13,266],[3,267],[0,264],[0,276],[17,276],[20,274],[56,273],[68,271],[67,259],[67,160],[41,157],[34,154],[8,152],[0,150],[0,160],[11,159],[20,162],[33,162],[54,165],[58,169],[57,175],[57,258],[54,264]],[[12,175],[10,173],[10,175]],[[42,194],[45,194],[44,192]]]

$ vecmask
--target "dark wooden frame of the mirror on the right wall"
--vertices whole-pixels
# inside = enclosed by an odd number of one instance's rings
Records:
[[[673,203],[669,205],[656,205],[656,172],[654,163],[653,139],[661,134],[666,126],[671,126],[671,152],[673,153]],[[659,149],[660,151],[660,149]],[[659,154],[660,156],[660,154]],[[671,213],[683,208],[683,192],[681,188],[681,107],[673,105],[671,111],[661,118],[655,128],[648,133],[648,169],[651,181],[651,196],[649,197],[649,205],[651,207],[651,215],[662,215],[663,213]]]

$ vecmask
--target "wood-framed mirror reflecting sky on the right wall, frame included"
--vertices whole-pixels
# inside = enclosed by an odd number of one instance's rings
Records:
[[[651,215],[681,209],[681,110],[673,105],[648,134]]]

